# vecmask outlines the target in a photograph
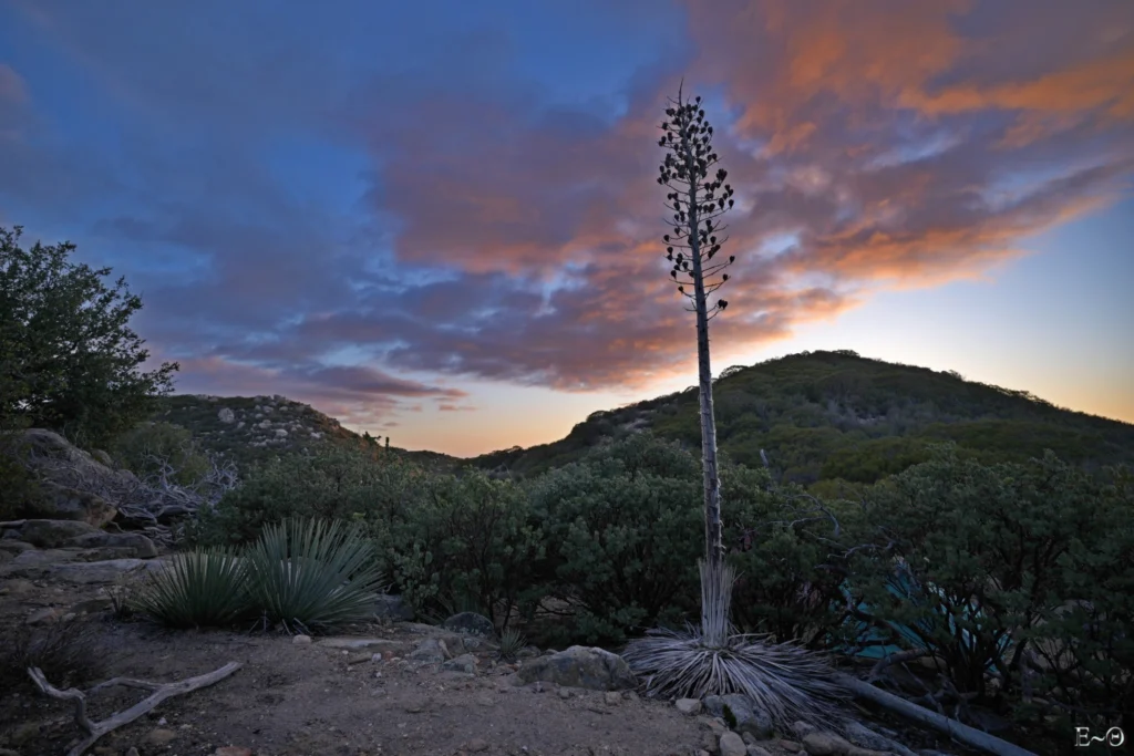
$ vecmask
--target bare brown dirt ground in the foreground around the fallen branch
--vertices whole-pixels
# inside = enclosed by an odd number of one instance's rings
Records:
[[[37,611],[74,611],[104,592],[101,586],[0,577],[0,623],[23,625]],[[462,648],[459,635],[416,623],[356,627],[349,636],[301,645],[276,634],[164,630],[118,620],[107,611],[87,621],[107,665],[101,679],[169,682],[228,662],[242,664],[231,677],[169,698],[104,736],[88,751],[100,756],[133,756],[132,748],[138,756],[686,756],[716,746],[713,728],[720,727],[709,716],[685,716],[670,703],[631,691],[516,685],[516,665],[498,663],[494,648],[483,643]],[[446,671],[407,659],[430,637],[443,639],[455,655],[472,651],[476,671]],[[103,719],[145,695],[122,688],[99,693],[91,698],[90,714]],[[67,703],[45,697],[29,682],[0,690],[0,755],[57,756],[78,733]],[[907,742],[963,753],[936,738]],[[236,748],[221,750],[229,746]],[[760,746],[769,756],[786,756],[798,747],[780,741]]]

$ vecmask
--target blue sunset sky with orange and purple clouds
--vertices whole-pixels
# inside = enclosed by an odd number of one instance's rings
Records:
[[[0,227],[125,275],[178,392],[544,443],[696,383],[683,80],[737,199],[714,373],[854,349],[1134,422],[1128,0],[0,0]]]

